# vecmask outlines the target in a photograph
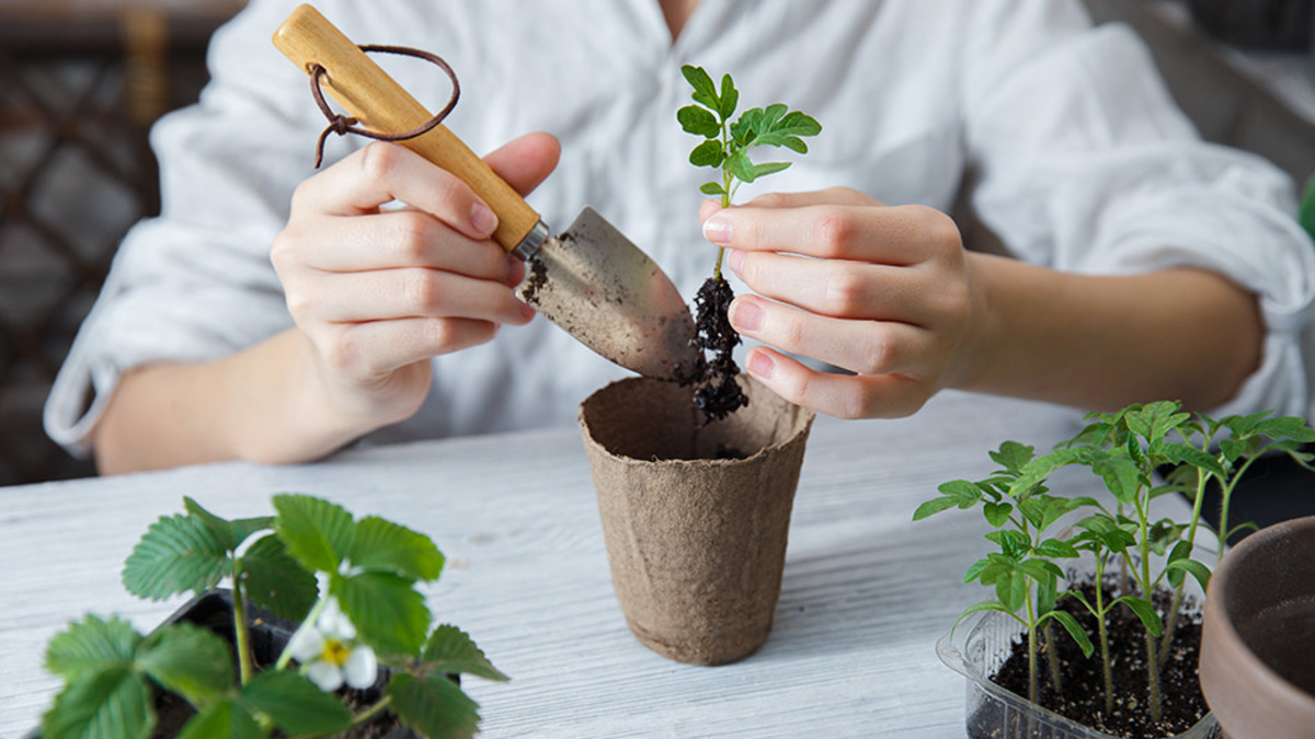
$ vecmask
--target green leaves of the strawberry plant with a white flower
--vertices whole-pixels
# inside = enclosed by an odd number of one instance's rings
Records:
[[[385,707],[429,736],[477,731],[476,703],[448,675],[508,677],[462,630],[430,630],[417,586],[438,579],[443,555],[429,536],[377,517],[356,521],[342,506],[304,494],[275,496],[274,517],[227,521],[192,498],[184,508],[149,527],[125,563],[124,585],[160,600],[229,579],[241,676],[230,644],[200,626],[170,623],[142,636],[121,618],[88,615],[47,646],[46,668],[64,688],[42,719],[43,736],[149,736],[156,689],[197,709],[180,734],[192,739],[329,735]],[[327,583],[323,593],[317,580]],[[337,602],[354,635],[333,638],[351,639],[350,648],[377,654],[393,671],[380,702],[354,717],[291,652],[271,668],[249,669],[247,600],[302,619],[302,630],[321,629],[317,618]]]

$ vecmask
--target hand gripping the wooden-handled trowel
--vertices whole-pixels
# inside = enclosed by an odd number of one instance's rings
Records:
[[[540,133],[485,160],[523,196],[559,153]],[[406,208],[380,210],[393,200]],[[489,239],[496,225],[456,176],[393,143],[301,183],[270,256],[306,338],[308,389],[345,425],[364,434],[409,418],[429,392],[433,356],[534,317],[513,291],[525,266]]]

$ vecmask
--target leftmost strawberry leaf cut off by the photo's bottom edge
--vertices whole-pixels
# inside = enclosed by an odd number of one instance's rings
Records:
[[[146,739],[155,709],[146,681],[112,667],[70,681],[41,719],[43,739]]]

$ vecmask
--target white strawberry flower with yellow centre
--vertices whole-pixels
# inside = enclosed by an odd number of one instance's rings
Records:
[[[292,635],[288,652],[321,690],[331,693],[343,682],[359,690],[375,684],[379,663],[375,650],[355,639],[356,627],[330,598],[313,625],[302,623]]]

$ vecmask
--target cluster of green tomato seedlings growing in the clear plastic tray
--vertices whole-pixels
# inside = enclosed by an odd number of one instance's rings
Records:
[[[1308,192],[1308,196],[1315,203],[1315,195]],[[1214,481],[1222,490],[1216,531],[1222,556],[1223,540],[1232,531],[1227,523],[1230,500],[1251,464],[1262,455],[1286,452],[1310,465],[1311,455],[1302,451],[1302,444],[1311,442],[1315,442],[1315,429],[1303,418],[1274,417],[1266,412],[1214,419],[1186,413],[1177,402],[1130,405],[1115,413],[1088,414],[1088,425],[1076,437],[1045,455],[1038,456],[1032,447],[1018,442],[1002,443],[998,451],[990,452],[1001,469],[980,481],[942,484],[940,496],[919,505],[914,519],[981,505],[992,529],[986,539],[999,551],[970,564],[964,583],[977,581],[992,588],[994,600],[970,606],[960,619],[984,610],[1007,613],[1027,629],[1032,650],[1036,629],[1047,621],[1059,622],[1089,656],[1099,647],[1106,706],[1112,705],[1112,686],[1105,625],[1112,609],[1127,608],[1152,636],[1147,642],[1148,705],[1152,715],[1159,715],[1159,669],[1162,656],[1169,654],[1184,583],[1190,576],[1205,590],[1210,581],[1210,567],[1195,559],[1206,485]],[[1101,479],[1111,500],[1051,496],[1047,480],[1069,465],[1085,467]],[[1161,473],[1164,483],[1157,484]],[[1152,521],[1151,501],[1173,492],[1193,501],[1189,518]],[[1072,527],[1074,534],[1066,539],[1044,535],[1073,513],[1082,514]],[[1064,575],[1055,560],[1080,554],[1091,558],[1097,584],[1105,583],[1105,573],[1111,567],[1119,567],[1128,592],[1110,602],[1105,602],[1101,588],[1097,588],[1095,602],[1073,590],[1057,593],[1057,583]],[[1174,593],[1168,622],[1151,605],[1152,593],[1165,585]],[[1065,597],[1077,600],[1095,617],[1099,632],[1094,644],[1091,635],[1082,631],[1070,614],[1055,608],[1056,601]],[[1157,644],[1155,639],[1161,642]],[[1035,696],[1035,654],[1030,663]]]

